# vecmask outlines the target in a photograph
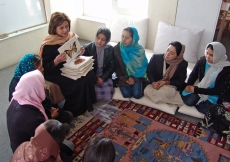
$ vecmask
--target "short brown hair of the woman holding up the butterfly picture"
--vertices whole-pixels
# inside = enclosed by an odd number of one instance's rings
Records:
[[[48,29],[48,33],[50,35],[56,35],[56,28],[61,25],[64,21],[67,21],[69,24],[69,29],[70,29],[70,23],[71,20],[69,19],[69,17],[62,12],[54,12],[51,15],[50,18],[50,23],[49,23],[49,29]]]

